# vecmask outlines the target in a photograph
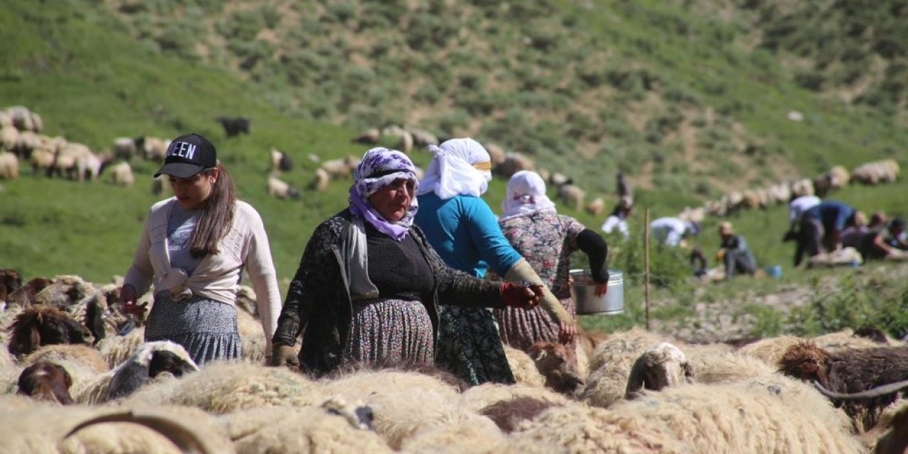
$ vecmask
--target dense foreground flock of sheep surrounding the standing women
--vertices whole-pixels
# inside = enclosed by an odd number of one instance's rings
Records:
[[[198,368],[177,344],[143,342],[141,321],[123,331],[107,311],[116,284],[22,282],[12,270],[0,284],[3,452],[888,453],[908,443],[894,390],[843,395],[908,379],[908,347],[875,330],[741,347],[584,333],[576,351],[506,347],[518,384],[469,388],[431,367],[320,379],[264,367],[248,289],[244,359]]]

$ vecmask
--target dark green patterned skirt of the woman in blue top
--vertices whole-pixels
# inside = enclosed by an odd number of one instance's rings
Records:
[[[513,384],[495,317],[487,309],[439,306],[439,350],[435,362],[470,385]]]

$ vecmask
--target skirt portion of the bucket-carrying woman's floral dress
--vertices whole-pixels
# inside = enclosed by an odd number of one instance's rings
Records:
[[[571,316],[576,316],[574,300],[561,300],[561,305]],[[558,342],[558,322],[554,321],[545,309],[537,306],[530,310],[518,308],[496,309],[498,332],[501,341],[518,350],[529,350],[535,342]],[[568,348],[574,348],[571,341]]]

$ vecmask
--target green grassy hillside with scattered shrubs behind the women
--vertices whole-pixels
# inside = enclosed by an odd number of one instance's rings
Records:
[[[26,105],[43,115],[46,133],[95,150],[119,136],[207,135],[242,198],[262,213],[284,280],[315,225],[346,205],[347,183],[304,192],[300,201],[273,200],[265,191],[268,150],[291,154],[296,167],[283,178],[304,187],[318,165],[310,155],[361,154],[365,147],[350,137],[365,126],[411,123],[495,141],[568,173],[607,204],[623,168],[637,185],[638,206],[654,218],[834,163],[895,157],[904,166],[900,102],[881,110],[834,96],[826,85],[804,86],[791,45],[765,41],[766,30],[787,30],[779,24],[797,12],[761,13],[769,7],[10,0],[0,5],[0,107]],[[772,43],[795,40],[769,35]],[[793,110],[803,122],[787,120]],[[252,134],[226,138],[212,120],[221,114],[252,118]],[[425,152],[413,157],[427,162]],[[0,266],[92,281],[122,274],[157,199],[149,191],[157,165],[133,167],[132,188],[27,170],[3,182]],[[496,211],[504,184],[494,181],[487,195]],[[868,211],[903,212],[905,186],[850,188],[835,197]],[[602,222],[561,211],[591,228]],[[776,207],[733,221],[760,262],[787,265],[792,246],[778,242],[785,218]],[[632,222],[642,225],[642,210]],[[700,240],[707,254],[715,251],[716,222],[706,223]],[[613,260],[623,266],[628,259]],[[678,263],[664,266],[676,272]],[[805,274],[786,270],[789,279]],[[639,293],[629,295],[639,301]],[[625,321],[638,321],[632,315]]]

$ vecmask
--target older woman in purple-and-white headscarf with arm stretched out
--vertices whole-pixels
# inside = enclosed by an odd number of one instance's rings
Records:
[[[396,150],[363,155],[350,206],[322,222],[306,245],[272,339],[272,365],[301,365],[316,375],[347,363],[428,365],[439,304],[538,304],[537,286],[482,281],[441,261],[413,225],[415,170]]]

